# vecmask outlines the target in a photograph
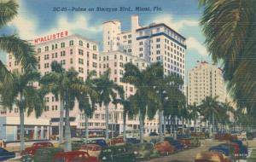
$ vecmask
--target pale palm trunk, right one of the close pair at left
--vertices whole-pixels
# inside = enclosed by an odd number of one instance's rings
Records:
[[[71,146],[71,130],[70,130],[70,121],[69,121],[69,108],[66,107],[65,115],[65,152],[72,151]]]

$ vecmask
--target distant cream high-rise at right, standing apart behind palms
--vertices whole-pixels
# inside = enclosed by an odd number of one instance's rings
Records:
[[[201,61],[196,67],[189,71],[188,103],[198,105],[207,96],[218,96],[218,101],[226,101],[228,98],[223,72],[220,68]]]

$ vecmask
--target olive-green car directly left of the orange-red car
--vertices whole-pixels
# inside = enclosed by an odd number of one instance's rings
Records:
[[[127,148],[130,149],[131,152],[135,153],[137,159],[160,157],[160,153],[154,149],[154,145],[152,143],[131,144],[127,145]]]

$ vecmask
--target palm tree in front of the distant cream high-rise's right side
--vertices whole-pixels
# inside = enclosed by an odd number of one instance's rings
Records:
[[[209,119],[209,121],[211,121],[210,118],[212,118],[212,135],[214,135],[214,128],[216,124],[215,119],[218,118],[220,109],[220,105],[217,100],[218,96],[207,96],[203,101],[201,101],[200,105],[201,115],[203,115],[205,119]]]

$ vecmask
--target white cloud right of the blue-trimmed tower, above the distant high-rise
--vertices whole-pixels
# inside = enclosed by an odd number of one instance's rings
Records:
[[[196,50],[199,55],[208,55],[207,48],[202,43],[200,43],[196,38],[190,37],[186,40],[186,43],[188,49]]]

